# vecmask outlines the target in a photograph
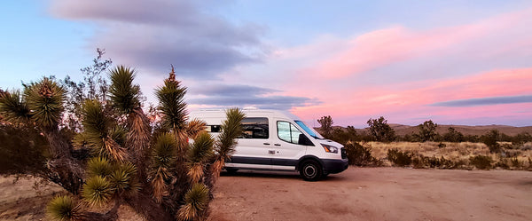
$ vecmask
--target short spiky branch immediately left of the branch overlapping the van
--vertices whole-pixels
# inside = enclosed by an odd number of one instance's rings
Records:
[[[187,175],[191,178],[192,183],[198,183],[203,178],[205,170],[205,162],[213,154],[213,145],[215,139],[210,136],[206,131],[200,132],[200,134],[194,140],[192,148],[188,152]]]

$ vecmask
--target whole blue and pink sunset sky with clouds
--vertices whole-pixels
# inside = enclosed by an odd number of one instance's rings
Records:
[[[4,0],[0,33],[4,90],[101,48],[153,104],[173,65],[189,109],[532,125],[532,1]]]

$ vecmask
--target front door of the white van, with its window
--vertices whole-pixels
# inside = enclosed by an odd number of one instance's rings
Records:
[[[295,170],[297,160],[305,155],[307,146],[300,145],[299,139],[305,136],[292,122],[276,119],[277,134],[271,157],[272,169]]]

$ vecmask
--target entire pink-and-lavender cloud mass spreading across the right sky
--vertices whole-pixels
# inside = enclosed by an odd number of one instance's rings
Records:
[[[457,27],[413,30],[395,26],[281,50],[271,65],[282,63],[279,77],[290,80],[283,85],[283,94],[324,102],[293,108],[293,113],[304,119],[330,114],[340,119],[340,125],[352,125],[348,119],[363,124],[379,115],[393,117],[390,122],[415,124],[431,116],[445,121],[519,116],[532,120],[530,103],[429,106],[457,99],[530,95],[532,67],[522,61],[532,56],[530,23],[532,9]],[[427,58],[433,63],[423,63]],[[290,64],[283,63],[286,60]],[[409,68],[392,68],[404,66]],[[374,70],[382,67],[392,72],[380,73],[384,78],[369,82],[368,77],[378,73]],[[406,73],[402,73],[404,69]],[[395,76],[394,71],[410,80]],[[358,83],[360,79],[367,84]]]

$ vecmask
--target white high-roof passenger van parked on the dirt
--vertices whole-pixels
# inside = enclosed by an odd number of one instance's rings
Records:
[[[305,180],[318,180],[348,169],[344,146],[323,138],[297,116],[278,110],[244,109],[242,135],[225,170],[297,170]],[[207,122],[217,136],[225,110],[200,110],[190,119]]]

